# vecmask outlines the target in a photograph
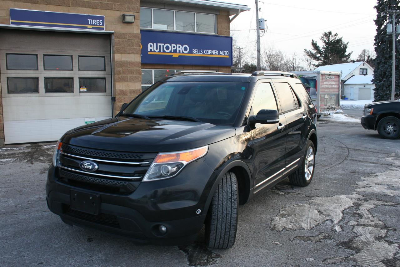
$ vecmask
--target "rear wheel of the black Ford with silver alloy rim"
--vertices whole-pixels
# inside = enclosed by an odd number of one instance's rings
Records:
[[[296,172],[289,175],[290,183],[296,186],[308,186],[312,181],[312,177],[314,176],[314,167],[315,147],[314,143],[308,140],[301,165]]]

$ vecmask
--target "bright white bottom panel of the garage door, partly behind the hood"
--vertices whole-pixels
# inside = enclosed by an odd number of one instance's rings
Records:
[[[96,121],[109,117],[96,117]],[[85,124],[85,118],[39,119],[25,121],[4,121],[6,144],[54,141],[70,129]],[[29,130],[27,130],[29,129]]]

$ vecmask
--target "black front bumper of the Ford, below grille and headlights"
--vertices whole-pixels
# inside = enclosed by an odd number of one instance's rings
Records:
[[[196,172],[199,169],[202,171]],[[57,177],[58,169],[50,166],[46,200],[48,208],[64,223],[120,235],[139,243],[178,245],[193,242],[202,229],[207,214],[206,188],[209,189],[213,175],[213,170],[198,160],[174,178],[141,182],[132,194],[118,195],[64,184]],[[100,214],[72,210],[70,190],[99,194]],[[202,210],[200,214],[196,214],[198,209]],[[160,225],[167,228],[165,234],[158,231]]]

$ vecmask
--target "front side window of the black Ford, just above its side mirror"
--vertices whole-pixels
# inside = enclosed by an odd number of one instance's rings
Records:
[[[260,83],[253,100],[253,113],[256,115],[261,109],[278,110],[276,99],[270,83]]]

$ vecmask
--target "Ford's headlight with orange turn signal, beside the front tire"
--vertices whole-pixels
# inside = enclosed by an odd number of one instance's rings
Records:
[[[176,176],[187,164],[206,155],[208,146],[191,150],[158,153],[143,178],[143,182]]]

